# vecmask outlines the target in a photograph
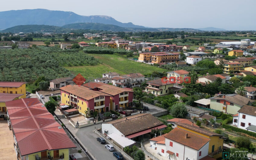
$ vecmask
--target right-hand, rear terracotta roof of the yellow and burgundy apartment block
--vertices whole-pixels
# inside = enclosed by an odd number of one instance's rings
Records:
[[[101,89],[100,92],[110,94],[110,95],[117,95],[123,92],[133,92],[129,89],[116,87],[114,85],[109,85],[102,82],[89,82],[89,83],[83,84],[82,86],[85,86],[87,88],[99,88]]]

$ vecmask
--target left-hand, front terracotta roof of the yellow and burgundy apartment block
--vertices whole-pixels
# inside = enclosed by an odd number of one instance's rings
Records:
[[[86,100],[90,100],[99,96],[110,96],[109,94],[102,93],[100,91],[93,91],[89,88],[78,86],[78,85],[66,85],[59,89],[63,91],[67,91],[71,94],[75,94],[76,96],[84,98]]]

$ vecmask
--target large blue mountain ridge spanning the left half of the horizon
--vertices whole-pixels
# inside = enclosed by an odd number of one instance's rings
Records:
[[[145,28],[133,23],[122,23],[105,15],[82,16],[74,12],[51,11],[47,9],[23,9],[0,12],[0,29],[18,25],[44,24],[50,26],[63,26],[77,22],[113,24],[120,27]]]

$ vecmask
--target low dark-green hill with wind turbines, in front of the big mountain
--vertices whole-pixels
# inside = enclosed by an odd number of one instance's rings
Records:
[[[101,24],[101,23],[73,23],[62,26],[69,29],[89,29],[89,30],[109,30],[109,31],[129,31],[126,28],[119,27],[113,24]]]

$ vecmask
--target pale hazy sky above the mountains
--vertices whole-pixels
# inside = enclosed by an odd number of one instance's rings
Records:
[[[256,0],[12,0],[1,6],[0,11],[43,8],[107,15],[145,27],[256,30]]]

